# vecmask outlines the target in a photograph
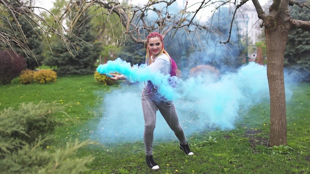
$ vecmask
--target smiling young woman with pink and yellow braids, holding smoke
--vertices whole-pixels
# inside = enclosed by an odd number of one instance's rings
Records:
[[[147,37],[147,53],[146,53],[146,65],[152,72],[160,71],[163,75],[175,75],[177,66],[175,62],[170,58],[168,52],[163,47],[163,38],[159,33],[150,33]],[[126,79],[124,75],[112,74],[113,80]],[[153,159],[153,135],[156,125],[156,111],[157,109],[167,122],[168,126],[174,131],[174,134],[179,139],[180,149],[182,149],[186,155],[194,155],[191,152],[187,139],[185,137],[183,128],[180,125],[178,114],[176,112],[173,101],[168,101],[165,97],[156,90],[156,86],[152,82],[148,81],[146,86],[142,90],[142,110],[145,121],[144,129],[144,145],[146,162],[152,170],[158,170],[159,166]]]

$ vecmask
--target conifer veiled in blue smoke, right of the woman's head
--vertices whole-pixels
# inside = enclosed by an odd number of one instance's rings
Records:
[[[237,26],[235,23],[231,23],[231,18],[233,18],[231,9],[226,6],[219,6],[212,17],[207,20],[205,25],[210,26],[213,28],[212,31],[216,32],[206,32],[207,41],[196,43],[204,46],[204,49],[192,53],[191,67],[201,64],[210,65],[218,69],[220,74],[223,74],[235,72],[242,66],[244,46],[240,43]],[[203,36],[204,34],[200,34],[200,37]],[[228,38],[228,43],[220,44]]]

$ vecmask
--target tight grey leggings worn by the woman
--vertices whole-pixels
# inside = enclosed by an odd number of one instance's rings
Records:
[[[187,140],[184,131],[180,125],[178,114],[172,101],[159,101],[155,102],[149,94],[146,88],[142,90],[141,95],[142,110],[144,115],[144,146],[146,156],[153,155],[153,137],[156,126],[156,111],[157,108],[161,115],[167,122],[168,126],[174,131],[174,134],[179,139],[181,144],[186,144]]]

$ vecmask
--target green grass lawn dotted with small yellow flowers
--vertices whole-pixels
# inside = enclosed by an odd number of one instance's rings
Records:
[[[64,147],[69,139],[89,139],[101,119],[104,93],[118,85],[104,86],[93,75],[58,77],[49,84],[0,86],[0,111],[23,102],[59,102],[66,106],[49,150]],[[154,157],[159,171],[145,163],[143,137],[134,142],[92,145],[75,157],[94,156],[86,174],[309,174],[310,84],[294,86],[287,101],[287,146],[268,147],[269,101],[240,111],[234,130],[206,130],[188,135],[194,156],[186,156],[175,140],[155,140]],[[140,104],[140,103],[137,103]],[[143,131],[143,130],[141,130]]]

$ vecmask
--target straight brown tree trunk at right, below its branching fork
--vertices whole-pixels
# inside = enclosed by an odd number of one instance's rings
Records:
[[[270,146],[287,144],[286,103],[284,90],[284,51],[288,31],[281,25],[265,29],[267,77],[270,93]]]

